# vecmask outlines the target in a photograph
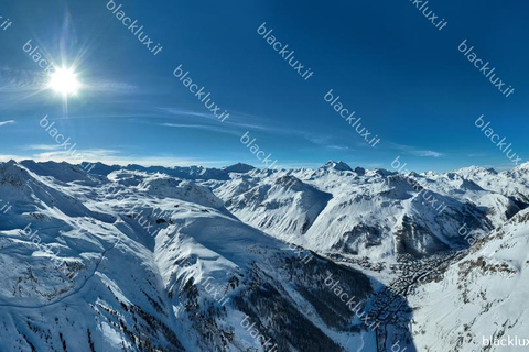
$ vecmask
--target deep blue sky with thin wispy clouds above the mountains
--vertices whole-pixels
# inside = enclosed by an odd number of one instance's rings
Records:
[[[116,1],[161,43],[153,55],[107,10],[108,1],[19,0],[0,6],[0,160],[80,162],[39,125],[44,116],[83,160],[145,165],[261,166],[240,136],[283,167],[327,160],[415,170],[515,166],[474,121],[529,157],[529,25],[523,1],[431,0],[439,31],[411,1]],[[301,78],[258,35],[277,38],[314,72]],[[463,40],[516,88],[509,98],[458,52]],[[64,99],[22,46],[75,65],[83,89]],[[230,112],[220,122],[173,70]],[[323,99],[333,89],[380,143],[369,146]]]

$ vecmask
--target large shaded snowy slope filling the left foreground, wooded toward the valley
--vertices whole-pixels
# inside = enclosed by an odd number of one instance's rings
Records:
[[[366,301],[368,277],[240,222],[206,187],[31,166],[0,165],[15,205],[0,215],[0,351],[257,351],[245,317],[280,350],[374,339],[324,284]]]

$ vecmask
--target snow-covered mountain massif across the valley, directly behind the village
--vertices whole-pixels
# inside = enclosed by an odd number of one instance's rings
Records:
[[[462,227],[484,235],[520,206],[456,173],[353,170],[343,162],[210,185],[234,215],[262,231],[319,252],[379,260],[466,248]]]

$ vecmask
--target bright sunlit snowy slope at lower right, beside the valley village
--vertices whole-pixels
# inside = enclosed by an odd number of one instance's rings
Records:
[[[529,211],[523,210],[410,299],[414,343],[419,351],[525,350],[528,292]],[[494,340],[499,345],[490,346]],[[523,344],[516,346],[517,340]]]

